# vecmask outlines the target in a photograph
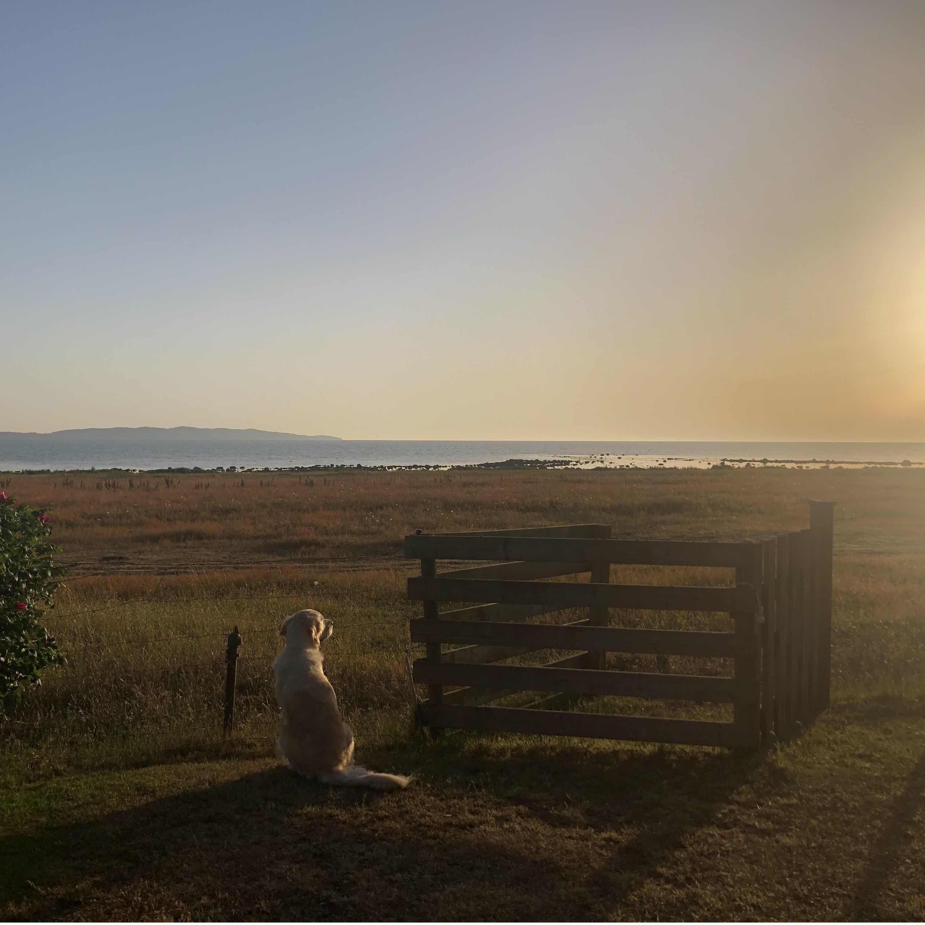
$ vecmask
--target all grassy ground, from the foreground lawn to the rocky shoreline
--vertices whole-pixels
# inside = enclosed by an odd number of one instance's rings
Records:
[[[919,470],[0,482],[51,512],[70,568],[47,615],[67,664],[0,724],[6,919],[925,917]],[[739,756],[414,729],[406,534],[604,523],[614,536],[763,538],[806,526],[807,499],[837,502],[833,707],[794,739]],[[614,577],[630,572],[660,580]],[[336,623],[327,669],[358,759],[413,773],[409,790],[333,790],[273,759],[278,625],[307,606]],[[237,722],[223,740],[233,626]]]

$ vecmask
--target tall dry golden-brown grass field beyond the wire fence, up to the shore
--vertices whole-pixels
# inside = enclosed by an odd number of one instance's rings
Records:
[[[407,625],[417,609],[405,598],[404,578],[415,563],[401,558],[401,537],[413,527],[602,522],[627,536],[768,536],[804,526],[808,497],[838,501],[836,696],[925,691],[925,473],[919,471],[347,470],[179,476],[176,483],[174,477],[133,478],[132,487],[125,478],[85,477],[82,488],[79,476],[72,485],[60,475],[14,478],[10,491],[53,511],[56,541],[76,567],[48,620],[68,665],[50,672],[15,722],[6,723],[7,741],[33,731],[45,755],[80,742],[98,754],[114,738],[120,753],[212,741],[221,716],[225,635],[234,625],[244,635],[240,733],[269,738],[276,627],[308,605],[337,623],[329,670],[351,722],[375,737],[383,725],[407,723],[411,713]],[[196,547],[188,538],[193,524],[208,524],[216,540]],[[146,539],[139,545],[129,542],[132,536]],[[283,547],[288,555],[279,558]],[[614,567],[613,578],[706,585],[730,576],[624,566]],[[623,612],[619,620],[726,628],[721,614]],[[623,670],[666,667],[645,656],[614,654],[610,661]],[[726,673],[729,666],[672,658],[668,668]],[[677,705],[619,706],[679,715]],[[724,715],[719,708],[684,711]]]

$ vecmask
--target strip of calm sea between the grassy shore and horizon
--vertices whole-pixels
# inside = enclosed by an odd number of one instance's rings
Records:
[[[234,465],[468,465],[511,459],[570,460],[582,466],[705,467],[723,460],[805,464],[925,463],[925,443],[644,443],[496,440],[87,440],[0,438],[0,471],[164,469]],[[736,463],[743,464],[743,463]],[[813,463],[810,463],[813,464]]]

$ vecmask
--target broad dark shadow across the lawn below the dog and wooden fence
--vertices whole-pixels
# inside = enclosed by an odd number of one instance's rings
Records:
[[[277,766],[0,840],[0,861],[26,871],[5,884],[7,916],[604,918],[754,764],[479,741],[415,746],[402,763],[419,779],[404,791],[332,788]],[[620,837],[579,887],[559,843],[583,829]]]

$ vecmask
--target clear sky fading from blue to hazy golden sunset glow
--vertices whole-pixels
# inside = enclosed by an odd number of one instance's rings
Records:
[[[925,3],[0,0],[0,430],[925,440]]]

